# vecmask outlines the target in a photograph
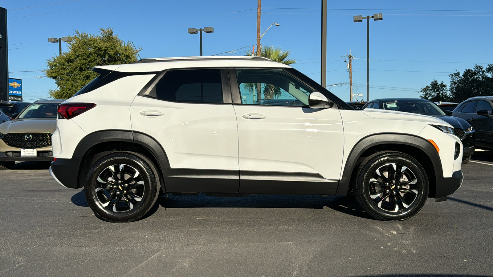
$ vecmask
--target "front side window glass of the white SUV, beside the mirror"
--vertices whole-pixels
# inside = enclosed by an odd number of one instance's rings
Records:
[[[304,106],[314,92],[298,79],[276,69],[237,69],[242,104]]]

